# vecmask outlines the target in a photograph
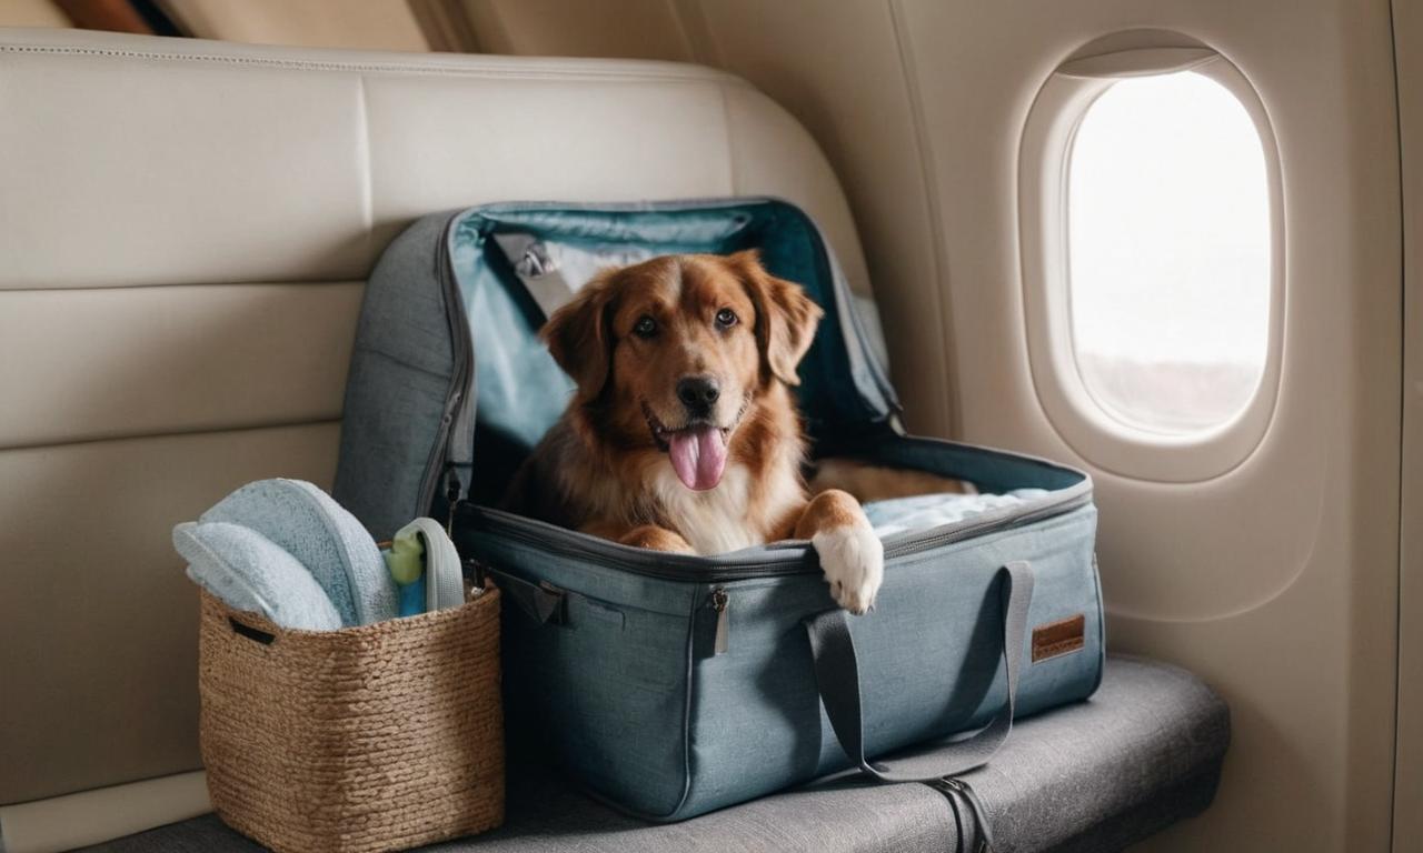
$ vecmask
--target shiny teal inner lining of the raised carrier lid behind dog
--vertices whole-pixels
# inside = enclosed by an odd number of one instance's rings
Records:
[[[899,411],[834,254],[815,223],[787,202],[485,205],[458,215],[447,240],[474,338],[472,479],[490,489],[477,486],[477,502],[497,500],[568,404],[572,381],[538,337],[548,314],[599,270],[659,254],[758,249],[771,274],[801,284],[824,309],[795,390],[820,448],[888,429]]]

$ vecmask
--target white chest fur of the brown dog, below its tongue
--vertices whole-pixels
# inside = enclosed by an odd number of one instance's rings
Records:
[[[794,473],[771,471],[760,482],[744,463],[731,462],[714,489],[693,492],[672,465],[659,465],[647,483],[667,526],[699,554],[720,554],[767,540],[768,519],[783,517],[803,500]]]

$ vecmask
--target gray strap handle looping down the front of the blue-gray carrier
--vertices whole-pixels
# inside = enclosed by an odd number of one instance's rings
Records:
[[[1025,562],[1007,563],[993,576],[1003,601],[1003,657],[1007,661],[1007,702],[986,726],[972,736],[936,751],[911,755],[892,763],[865,758],[864,726],[859,702],[859,667],[850,620],[844,610],[825,610],[805,617],[811,657],[815,661],[815,687],[825,705],[825,717],[841,749],[859,769],[881,782],[931,782],[983,766],[998,752],[1013,728],[1017,699],[1017,675],[1023,662],[1023,635],[1027,606],[1033,600],[1033,567]]]

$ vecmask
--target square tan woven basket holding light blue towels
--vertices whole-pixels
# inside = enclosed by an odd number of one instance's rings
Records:
[[[340,631],[202,594],[202,759],[218,815],[279,852],[400,850],[504,820],[499,593]]]

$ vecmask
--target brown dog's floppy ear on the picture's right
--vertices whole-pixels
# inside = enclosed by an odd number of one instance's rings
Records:
[[[815,340],[815,326],[825,316],[805,290],[766,272],[756,249],[727,256],[756,304],[756,343],[761,350],[761,378],[774,375],[787,385],[800,385],[795,365]]]

